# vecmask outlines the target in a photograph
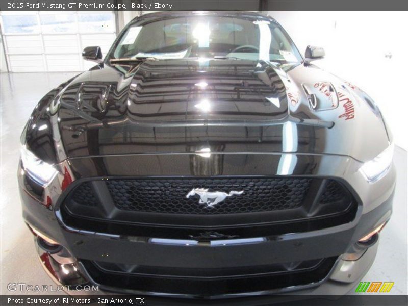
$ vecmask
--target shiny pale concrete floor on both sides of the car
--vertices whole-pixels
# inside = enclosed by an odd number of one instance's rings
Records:
[[[31,233],[21,217],[16,170],[19,137],[37,101],[76,73],[0,73],[0,294],[40,294],[8,291],[8,283],[52,285],[40,267]],[[402,124],[402,122],[401,122]],[[392,294],[408,293],[407,284],[407,152],[395,150],[397,187],[394,213],[381,232],[378,254],[365,282],[395,282]],[[53,294],[49,292],[48,294]]]

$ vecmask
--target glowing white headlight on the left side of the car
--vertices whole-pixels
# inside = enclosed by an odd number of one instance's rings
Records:
[[[58,171],[52,165],[36,157],[25,145],[21,146],[20,152],[22,167],[33,180],[45,186],[54,179]]]

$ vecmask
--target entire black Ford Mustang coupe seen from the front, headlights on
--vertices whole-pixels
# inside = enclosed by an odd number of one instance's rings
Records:
[[[372,99],[272,18],[162,12],[47,93],[21,136],[23,216],[57,283],[137,294],[344,294],[391,216]]]

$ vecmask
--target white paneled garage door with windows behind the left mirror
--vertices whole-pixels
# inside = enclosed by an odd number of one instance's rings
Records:
[[[116,36],[113,12],[3,12],[6,59],[11,72],[83,71],[84,47],[105,55]]]

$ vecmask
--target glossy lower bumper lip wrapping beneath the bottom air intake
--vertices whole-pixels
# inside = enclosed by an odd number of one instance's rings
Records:
[[[72,263],[61,264],[53,254],[50,254],[36,240],[36,248],[42,267],[48,276],[53,279],[57,285],[66,288],[70,295],[112,295],[136,294],[150,296],[170,296],[168,293],[145,292],[145,291],[126,291],[115,287],[108,287],[97,284],[87,273],[84,266],[77,261]],[[283,288],[279,290],[267,290],[263,292],[247,292],[244,294],[207,296],[207,298],[224,298],[224,297],[245,297],[258,295],[345,295],[354,290],[360,280],[370,269],[377,253],[378,240],[368,248],[362,257],[356,261],[346,261],[339,258],[331,269],[330,273],[322,279],[321,282],[307,286],[296,286],[293,288]],[[67,273],[69,271],[70,273]],[[97,288],[97,290],[91,289]],[[85,290],[84,290],[85,289]],[[175,295],[180,297],[179,295]],[[189,296],[193,298],[194,296]]]

